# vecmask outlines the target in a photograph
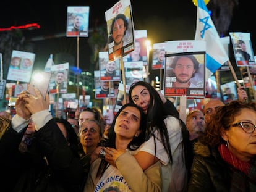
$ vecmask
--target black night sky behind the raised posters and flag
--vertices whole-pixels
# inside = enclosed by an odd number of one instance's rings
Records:
[[[116,2],[118,1],[5,1],[4,5],[0,6],[0,28],[28,23],[38,23],[40,28],[0,31],[4,78],[7,76],[12,50],[34,52],[34,70],[43,69],[49,55],[53,54],[55,64],[69,62],[69,65],[74,67],[79,64],[80,69],[93,74],[93,70],[98,70],[98,51],[107,50],[105,11]],[[131,4],[135,30],[147,30],[151,44],[172,40],[194,40],[197,7],[191,0],[131,0]],[[88,38],[79,38],[78,41],[75,37],[66,37],[67,6],[90,6]],[[255,8],[252,1],[210,0],[207,7],[212,12],[213,22],[220,36],[229,36],[229,32],[250,33],[255,52]],[[232,50],[229,54],[238,73]],[[155,79],[156,75],[160,75],[160,70],[151,70],[151,62],[149,69],[150,81]],[[231,77],[232,80],[230,73],[223,76]],[[90,83],[93,85],[93,80],[90,80]]]

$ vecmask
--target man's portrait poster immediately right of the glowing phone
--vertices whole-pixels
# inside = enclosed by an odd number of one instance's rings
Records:
[[[67,93],[67,77],[69,74],[69,63],[52,65],[49,93]]]

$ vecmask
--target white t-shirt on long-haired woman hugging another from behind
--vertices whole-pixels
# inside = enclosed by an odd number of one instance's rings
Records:
[[[169,116],[164,119],[164,123],[168,129],[173,164],[169,162],[167,152],[164,149],[163,143],[161,143],[158,131],[156,131],[156,157],[160,159],[162,164],[162,191],[182,191],[184,183],[187,181],[187,170],[184,161],[184,152],[182,149],[183,139],[181,123],[173,116]],[[153,136],[143,143],[139,149],[134,151],[134,154],[137,154],[139,151],[155,155],[155,143]],[[174,177],[172,177],[172,175],[174,175]]]

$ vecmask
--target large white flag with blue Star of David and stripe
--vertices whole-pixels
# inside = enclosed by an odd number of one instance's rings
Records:
[[[203,0],[197,1],[195,40],[206,41],[205,79],[207,80],[221,65],[228,61],[229,57],[220,41],[220,36]]]

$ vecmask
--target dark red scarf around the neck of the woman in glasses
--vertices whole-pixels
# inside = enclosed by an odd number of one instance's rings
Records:
[[[218,146],[218,151],[220,152],[220,155],[225,162],[248,175],[250,170],[250,164],[248,162],[239,160],[228,150],[224,144]]]

